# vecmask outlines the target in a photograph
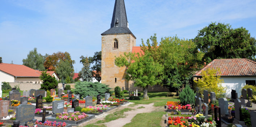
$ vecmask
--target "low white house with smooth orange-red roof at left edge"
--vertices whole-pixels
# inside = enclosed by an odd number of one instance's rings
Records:
[[[33,83],[41,84],[39,76],[42,71],[31,69],[25,65],[4,64],[0,63],[0,82],[9,83]],[[59,77],[54,71],[47,71],[47,73],[59,80]]]

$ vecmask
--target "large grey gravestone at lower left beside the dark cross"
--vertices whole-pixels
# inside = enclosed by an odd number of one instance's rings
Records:
[[[35,117],[35,105],[20,104],[16,108],[16,121],[25,123],[32,121]]]

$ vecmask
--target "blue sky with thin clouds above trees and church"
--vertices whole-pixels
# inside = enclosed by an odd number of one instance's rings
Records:
[[[115,0],[1,0],[0,57],[23,64],[29,51],[69,52],[80,71],[80,56],[101,51],[101,33],[110,28]],[[256,36],[255,0],[125,0],[129,29],[141,39],[154,33],[192,39],[211,22],[245,27]]]

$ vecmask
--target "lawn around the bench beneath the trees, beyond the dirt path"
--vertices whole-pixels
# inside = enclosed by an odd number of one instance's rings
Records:
[[[179,101],[179,97],[166,97],[167,92],[148,92],[149,100],[143,99],[143,92],[140,92],[141,100],[129,100],[136,104],[150,104],[154,103],[154,106],[164,106],[167,101]],[[124,97],[129,97],[128,93],[124,94]]]

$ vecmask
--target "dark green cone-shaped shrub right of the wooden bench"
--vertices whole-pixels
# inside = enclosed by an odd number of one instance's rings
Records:
[[[195,93],[190,88],[189,85],[186,85],[186,87],[182,90],[182,92],[180,92],[179,98],[182,105],[195,103],[195,99],[194,99]]]

